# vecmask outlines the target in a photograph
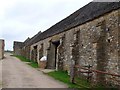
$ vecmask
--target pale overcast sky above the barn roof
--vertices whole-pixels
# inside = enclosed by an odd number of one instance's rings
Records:
[[[92,0],[0,0],[0,39],[5,49],[45,31]]]

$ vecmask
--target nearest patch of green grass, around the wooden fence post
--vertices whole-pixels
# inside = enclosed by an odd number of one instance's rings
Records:
[[[104,86],[97,85],[92,86],[87,80],[84,78],[75,78],[75,84],[70,83],[70,76],[65,71],[53,71],[48,73],[49,76],[62,81],[63,83],[67,84],[69,88],[77,88],[82,90],[117,90],[114,88],[105,88]]]

